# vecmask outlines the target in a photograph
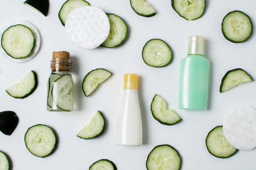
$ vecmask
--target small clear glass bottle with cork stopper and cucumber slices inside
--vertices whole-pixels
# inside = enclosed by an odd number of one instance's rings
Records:
[[[72,111],[74,109],[74,81],[71,75],[70,53],[54,51],[52,72],[47,82],[47,110]]]

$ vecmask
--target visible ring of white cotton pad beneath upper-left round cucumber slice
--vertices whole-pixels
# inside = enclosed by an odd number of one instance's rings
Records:
[[[22,25],[27,26],[29,29],[31,29],[32,33],[34,34],[35,42],[34,42],[33,51],[29,54],[29,56],[27,56],[25,58],[13,58],[13,57],[9,56],[7,53],[5,53],[5,51],[2,48],[2,46],[0,46],[0,53],[1,53],[1,55],[3,57],[5,57],[7,60],[9,60],[11,62],[17,62],[17,63],[27,62],[27,61],[33,59],[36,56],[38,50],[40,49],[40,43],[41,43],[40,35],[39,35],[39,32],[36,29],[36,27],[33,24],[31,24],[30,22],[27,22],[27,21],[14,21],[14,22],[8,23],[4,27],[2,27],[2,29],[0,31],[1,37],[2,37],[2,33],[6,29],[8,29],[10,26],[17,25],[17,24],[22,24]]]

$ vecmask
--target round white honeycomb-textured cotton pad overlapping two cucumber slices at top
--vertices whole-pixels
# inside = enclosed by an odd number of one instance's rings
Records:
[[[94,49],[108,37],[108,16],[97,7],[84,6],[73,9],[65,23],[67,36],[72,43],[84,49]]]

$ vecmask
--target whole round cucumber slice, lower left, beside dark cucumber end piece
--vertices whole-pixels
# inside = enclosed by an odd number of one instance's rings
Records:
[[[56,135],[47,125],[31,126],[25,134],[25,144],[31,154],[47,157],[56,146]]]

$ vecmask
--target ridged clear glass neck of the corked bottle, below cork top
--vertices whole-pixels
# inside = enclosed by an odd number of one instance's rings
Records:
[[[56,71],[68,71],[72,69],[71,59],[67,58],[53,58],[51,61],[52,72]]]

